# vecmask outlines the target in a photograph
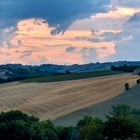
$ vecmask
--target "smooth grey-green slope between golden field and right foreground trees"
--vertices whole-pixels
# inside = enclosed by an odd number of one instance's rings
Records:
[[[119,104],[126,104],[134,108],[140,108],[140,85],[134,86],[129,91],[124,92],[123,94],[110,100],[97,103],[90,107],[60,117],[54,120],[54,123],[64,126],[75,125],[84,116],[93,116],[103,119],[106,115],[108,115],[109,111],[111,111],[113,105]]]

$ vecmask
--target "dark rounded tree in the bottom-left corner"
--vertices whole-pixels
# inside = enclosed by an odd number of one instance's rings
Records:
[[[34,136],[33,126],[39,119],[20,111],[0,114],[0,138],[4,140],[30,140]]]

